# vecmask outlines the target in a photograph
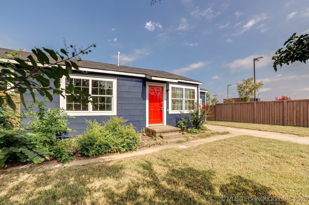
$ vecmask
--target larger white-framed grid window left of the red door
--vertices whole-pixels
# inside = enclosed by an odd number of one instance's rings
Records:
[[[66,112],[72,116],[95,116],[95,115],[116,115],[117,103],[117,80],[100,78],[95,76],[78,76],[72,75],[70,79],[64,77],[61,80],[61,88],[67,88],[73,85],[76,91],[83,91],[91,95],[92,103],[84,105],[79,104],[77,101],[68,102],[66,96],[70,95],[65,93],[65,99],[60,97],[60,103]]]

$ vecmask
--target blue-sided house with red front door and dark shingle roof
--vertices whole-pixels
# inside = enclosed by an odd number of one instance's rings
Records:
[[[0,49],[0,53],[4,52],[12,50]],[[21,54],[26,57],[32,53]],[[47,101],[48,108],[60,106],[75,117],[69,119],[69,123],[77,135],[83,134],[85,119],[102,122],[113,115],[124,117],[137,131],[149,126],[175,126],[176,120],[181,118],[180,111],[188,113],[196,101],[205,104],[207,91],[194,79],[166,71],[101,62],[83,60],[77,64],[82,72],[73,71],[70,80],[63,77],[61,87],[73,84],[75,89],[89,92],[97,105],[67,102],[60,95],[54,96],[52,102]],[[36,97],[41,99],[39,94]],[[24,94],[24,98],[32,101],[30,94]],[[23,124],[27,123],[26,119]]]

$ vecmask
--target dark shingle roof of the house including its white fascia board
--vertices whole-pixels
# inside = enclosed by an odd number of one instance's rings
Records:
[[[14,50],[11,49],[3,49],[0,48],[0,57],[7,58],[4,55],[5,52],[13,52]],[[27,60],[27,56],[32,54],[33,58],[36,59],[36,56],[33,53],[29,52],[19,52],[22,56],[21,59]],[[53,58],[49,55],[49,61],[51,63],[55,62]],[[75,59],[71,59],[72,61],[76,62],[80,67],[80,70],[91,71],[91,72],[99,72],[99,73],[109,73],[115,75],[130,75],[130,76],[137,76],[137,77],[145,77],[152,80],[161,80],[161,81],[170,81],[170,82],[187,82],[187,83],[194,83],[194,84],[201,84],[200,81],[186,78],[181,75],[176,75],[173,73],[169,73],[162,70],[151,70],[151,69],[144,69],[144,68],[135,68],[129,66],[117,66],[114,64],[108,63],[101,63],[101,62],[94,62],[94,61],[79,61],[77,62]],[[65,65],[65,63],[59,63],[60,65]]]

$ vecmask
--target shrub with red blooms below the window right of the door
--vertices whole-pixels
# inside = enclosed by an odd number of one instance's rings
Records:
[[[181,115],[189,120],[191,127],[197,130],[202,129],[207,117],[214,116],[213,105],[199,105],[198,102],[194,103],[193,110],[189,110],[188,112],[190,113],[190,116],[187,116],[184,112],[180,111]]]

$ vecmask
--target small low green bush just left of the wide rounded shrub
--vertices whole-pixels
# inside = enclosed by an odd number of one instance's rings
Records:
[[[75,152],[75,148],[71,139],[56,139],[49,151],[58,161],[66,164],[73,160],[72,156]]]

